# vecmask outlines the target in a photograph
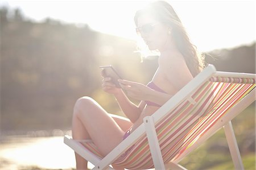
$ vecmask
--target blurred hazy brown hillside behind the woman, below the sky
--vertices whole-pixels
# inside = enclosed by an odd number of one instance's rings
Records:
[[[101,34],[85,25],[46,19],[35,23],[19,10],[1,9],[1,130],[71,126],[77,98],[95,98],[107,111],[120,113],[113,96],[101,90],[100,65],[112,64],[127,80],[146,84],[156,57],[141,63],[136,43]],[[255,43],[207,52],[219,71],[255,73]]]

